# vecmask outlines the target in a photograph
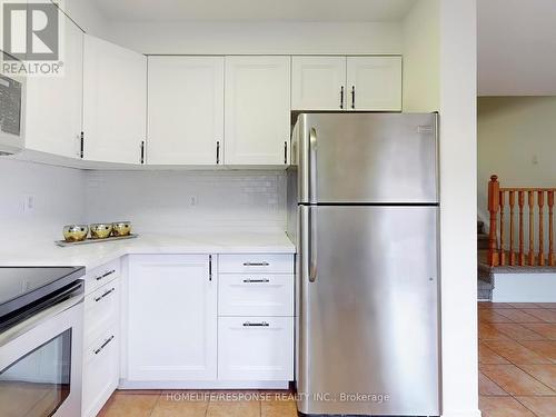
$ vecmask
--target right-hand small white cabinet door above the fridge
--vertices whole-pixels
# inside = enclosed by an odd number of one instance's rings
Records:
[[[401,111],[401,57],[348,57],[348,109]]]

